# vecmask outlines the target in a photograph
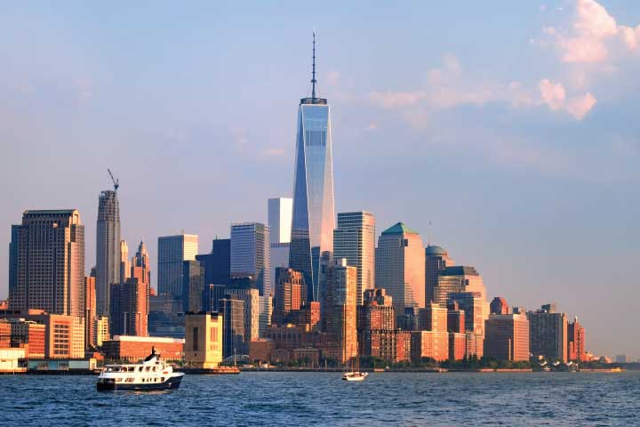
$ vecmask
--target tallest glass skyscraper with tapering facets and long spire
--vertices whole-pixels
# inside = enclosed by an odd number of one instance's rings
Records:
[[[320,260],[331,256],[335,228],[331,118],[327,100],[316,98],[315,32],[313,45],[311,98],[301,99],[298,108],[289,253],[289,266],[305,276],[307,301],[318,301],[325,287]]]

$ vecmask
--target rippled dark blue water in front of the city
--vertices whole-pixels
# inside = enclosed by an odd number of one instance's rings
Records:
[[[640,372],[186,375],[178,391],[99,393],[93,376],[0,376],[13,425],[640,425]]]

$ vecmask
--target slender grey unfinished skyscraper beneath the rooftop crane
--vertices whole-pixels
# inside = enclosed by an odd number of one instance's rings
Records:
[[[117,189],[117,187],[116,187]],[[105,190],[98,197],[96,223],[96,310],[109,315],[109,290],[120,283],[120,204],[116,190]]]

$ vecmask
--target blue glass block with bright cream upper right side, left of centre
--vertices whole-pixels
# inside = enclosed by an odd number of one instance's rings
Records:
[[[158,238],[158,294],[170,294],[181,300],[183,262],[195,260],[198,237],[195,234]]]

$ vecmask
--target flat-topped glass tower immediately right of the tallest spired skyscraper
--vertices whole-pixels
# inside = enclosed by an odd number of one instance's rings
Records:
[[[346,258],[357,268],[358,304],[366,289],[375,286],[375,217],[370,212],[338,214],[338,228],[333,230],[333,257]]]

